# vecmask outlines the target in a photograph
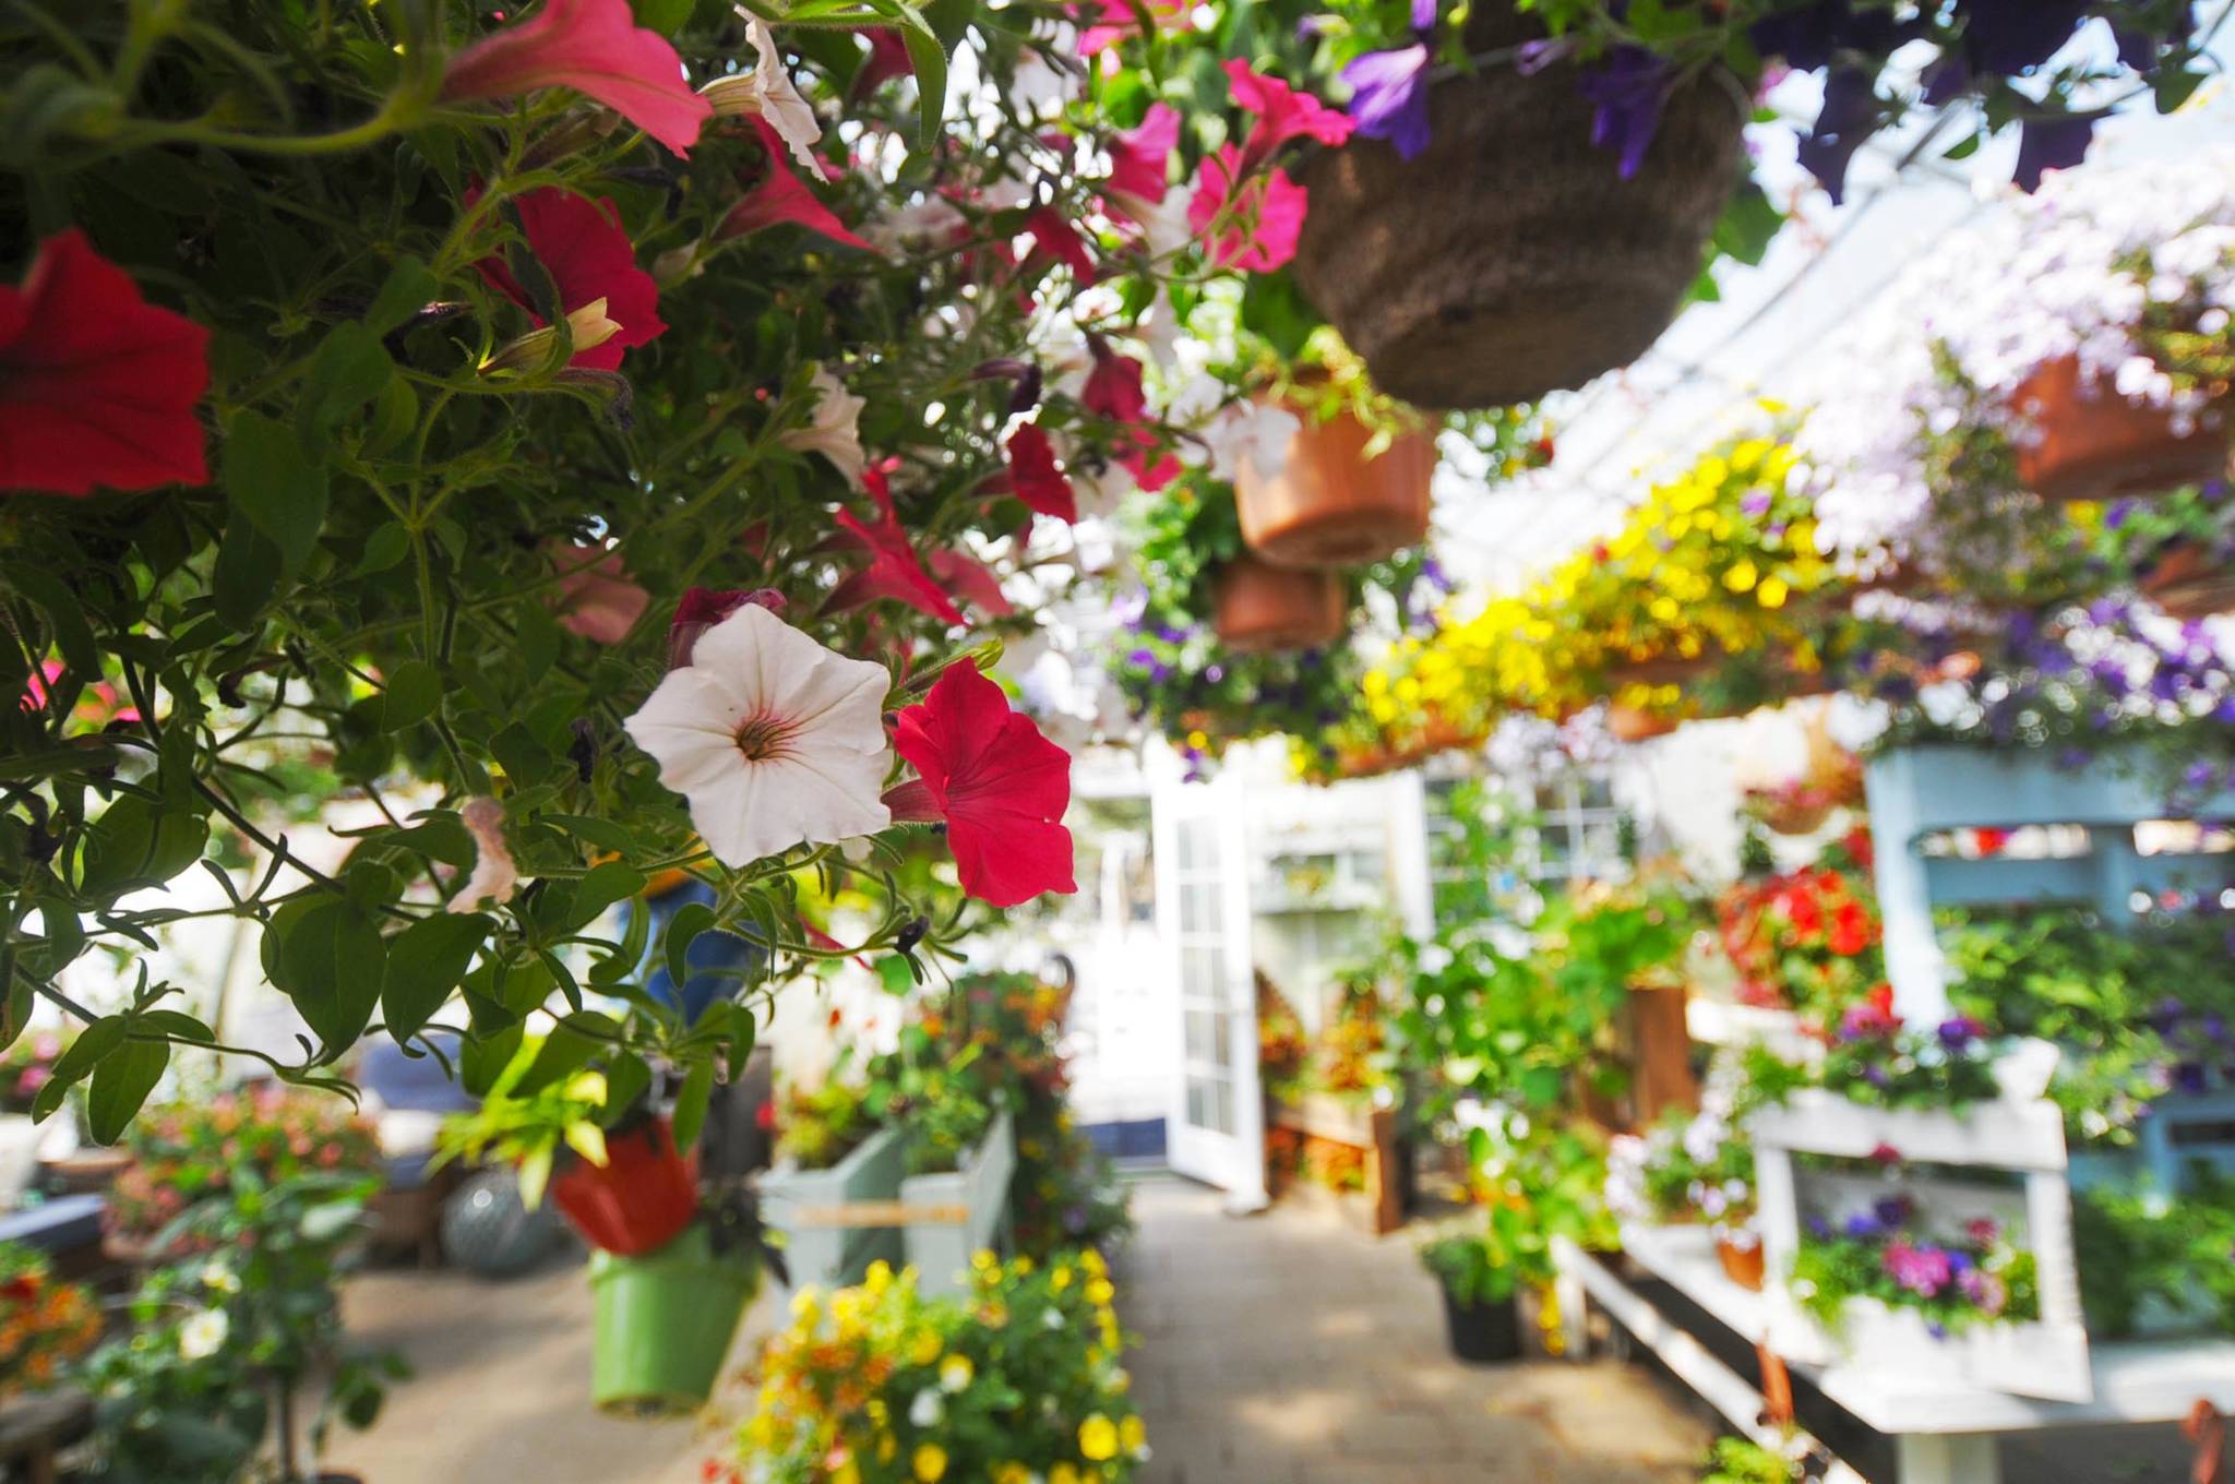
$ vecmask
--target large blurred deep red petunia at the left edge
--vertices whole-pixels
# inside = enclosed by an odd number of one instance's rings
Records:
[[[206,485],[210,331],[156,308],[76,228],[0,286],[0,489]]]

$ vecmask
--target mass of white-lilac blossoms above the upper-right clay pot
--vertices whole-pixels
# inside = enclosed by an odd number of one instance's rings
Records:
[[[2132,264],[2148,261],[2148,275]],[[2143,355],[2137,326],[2155,304],[2235,313],[2235,152],[2123,170],[2067,170],[1987,223],[1953,232],[1815,353],[1792,398],[1815,407],[1795,445],[1815,494],[1826,554],[1871,577],[1875,552],[1929,545],[1931,492],[1920,436],[1989,418],[2016,443],[2018,389],[2076,358],[2083,389],[2175,413],[2197,411]],[[1940,375],[1936,349],[1978,389]],[[2193,393],[2190,393],[2193,396]]]

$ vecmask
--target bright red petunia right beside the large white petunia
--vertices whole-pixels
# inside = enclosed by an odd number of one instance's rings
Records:
[[[948,822],[963,892],[1015,907],[1071,878],[1071,753],[1010,711],[1001,686],[970,662],[950,664],[923,702],[901,711],[894,751],[916,780],[892,789],[894,818]]]

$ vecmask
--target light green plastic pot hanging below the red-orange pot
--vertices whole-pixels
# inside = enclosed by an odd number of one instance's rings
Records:
[[[760,1265],[744,1252],[715,1252],[702,1225],[639,1256],[592,1254],[590,1399],[635,1417],[695,1412],[758,1290]]]

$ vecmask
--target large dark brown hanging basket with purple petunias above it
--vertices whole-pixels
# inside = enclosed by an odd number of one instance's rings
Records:
[[[1466,27],[1475,54],[1540,38],[1509,0]],[[1739,96],[1712,76],[1670,94],[1629,179],[1591,143],[1569,65],[1446,78],[1428,112],[1410,161],[1352,139],[1301,170],[1296,279],[1375,384],[1415,407],[1511,407],[1643,355],[1739,183]]]

